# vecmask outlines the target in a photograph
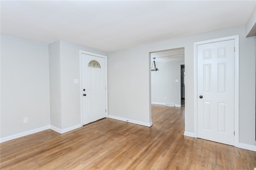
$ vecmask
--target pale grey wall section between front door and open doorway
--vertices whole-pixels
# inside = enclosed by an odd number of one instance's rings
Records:
[[[108,56],[108,114],[150,124],[149,51],[134,47]]]

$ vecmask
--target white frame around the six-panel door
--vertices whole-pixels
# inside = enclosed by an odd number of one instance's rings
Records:
[[[227,40],[234,40],[234,146],[238,147],[239,144],[239,35],[229,36],[223,38],[216,38],[212,40],[206,40],[194,43],[194,137],[198,137],[198,110],[197,110],[197,46],[206,44],[221,42]]]

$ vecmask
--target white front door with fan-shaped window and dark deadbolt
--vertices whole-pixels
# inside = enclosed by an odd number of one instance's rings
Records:
[[[105,58],[81,55],[82,123],[86,125],[106,117]]]

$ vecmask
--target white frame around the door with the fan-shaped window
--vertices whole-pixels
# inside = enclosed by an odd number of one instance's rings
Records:
[[[96,53],[91,53],[88,51],[79,51],[79,56],[80,56],[80,93],[83,90],[82,87],[82,54],[87,54],[87,55],[93,55],[95,57],[101,57],[105,59],[105,85],[106,85],[106,118],[108,117],[108,67],[107,67],[107,59],[108,57],[106,55],[101,55],[101,54],[96,54]],[[81,127],[83,126],[83,104],[82,104],[82,93],[80,94],[80,114],[81,114]]]

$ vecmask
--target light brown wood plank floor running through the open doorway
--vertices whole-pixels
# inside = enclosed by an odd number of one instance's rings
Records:
[[[184,136],[184,107],[152,105],[152,127],[102,119],[0,145],[0,168],[253,170],[256,152]]]

